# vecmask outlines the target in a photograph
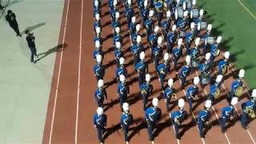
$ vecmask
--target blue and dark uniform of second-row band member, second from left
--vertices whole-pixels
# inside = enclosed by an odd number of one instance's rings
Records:
[[[130,93],[129,86],[127,86],[125,83],[119,82],[118,83],[118,96],[119,96],[119,102],[122,108],[122,104],[126,102],[126,99]]]

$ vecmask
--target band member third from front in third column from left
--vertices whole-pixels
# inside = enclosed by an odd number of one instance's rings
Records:
[[[145,75],[148,71],[148,66],[145,62],[144,51],[142,51],[139,54],[139,58],[140,58],[140,61],[135,64],[135,70],[137,71],[137,74],[138,74],[138,84],[139,86],[141,86],[142,83],[145,82],[145,78],[146,78]]]

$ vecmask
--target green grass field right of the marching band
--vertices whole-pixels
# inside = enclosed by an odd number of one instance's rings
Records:
[[[255,0],[198,0],[206,10],[214,34],[222,35],[223,45],[230,50],[231,61],[246,70],[246,82],[256,88],[256,1]]]

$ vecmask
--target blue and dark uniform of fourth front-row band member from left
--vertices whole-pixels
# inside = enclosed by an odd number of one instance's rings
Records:
[[[173,122],[176,138],[179,139],[179,127],[182,125],[182,122],[185,121],[187,113],[185,110],[177,110],[170,114],[171,121]]]

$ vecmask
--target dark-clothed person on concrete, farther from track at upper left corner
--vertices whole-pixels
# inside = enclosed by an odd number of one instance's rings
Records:
[[[21,37],[22,34],[20,34],[18,30],[18,22],[16,21],[16,15],[11,10],[7,10],[6,21],[9,22],[10,27],[14,29],[17,36]]]

